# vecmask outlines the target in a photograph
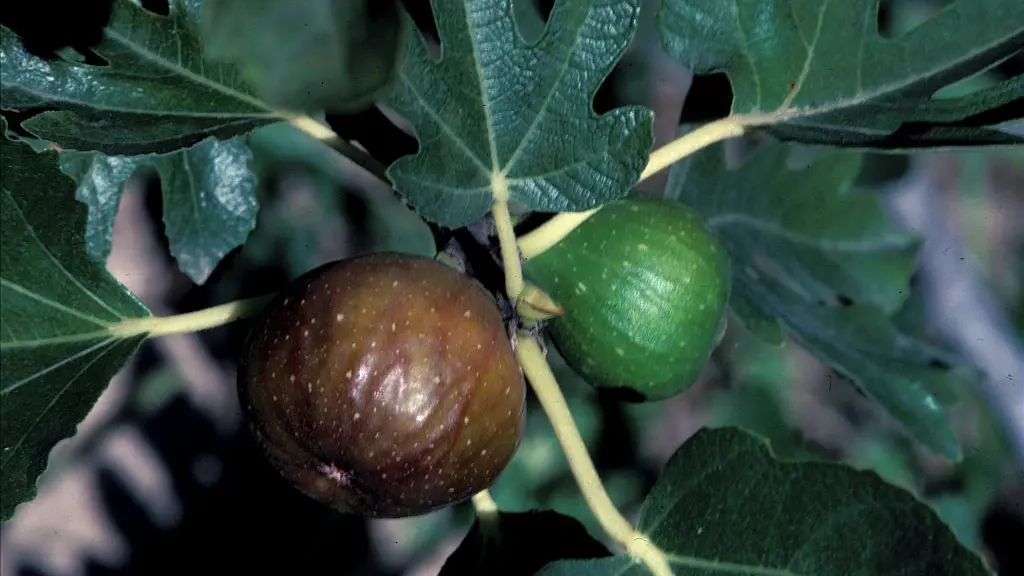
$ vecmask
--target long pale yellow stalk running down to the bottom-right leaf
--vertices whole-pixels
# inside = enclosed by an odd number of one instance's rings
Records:
[[[637,532],[633,525],[618,511],[608,496],[601,478],[594,468],[594,462],[587,452],[587,445],[580,436],[572,413],[569,412],[565,397],[558,387],[540,343],[528,332],[519,332],[516,357],[534,394],[551,421],[555,437],[562,446],[569,469],[587,501],[587,507],[597,519],[605,533],[625,548],[631,557],[642,562],[655,576],[671,576],[672,568],[662,551],[646,536]]]

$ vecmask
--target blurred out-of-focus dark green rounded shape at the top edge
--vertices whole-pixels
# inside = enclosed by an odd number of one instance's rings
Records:
[[[267,102],[346,112],[391,80],[402,22],[394,0],[207,0],[202,33]]]

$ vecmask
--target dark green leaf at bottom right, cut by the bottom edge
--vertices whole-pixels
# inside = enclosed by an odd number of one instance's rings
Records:
[[[665,466],[637,530],[677,576],[986,575],[938,515],[878,475],[780,461],[738,429],[703,429]],[[647,574],[631,559],[560,561],[541,574]]]

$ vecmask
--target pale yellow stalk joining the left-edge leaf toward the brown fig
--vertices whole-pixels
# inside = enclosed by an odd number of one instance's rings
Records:
[[[226,304],[187,314],[151,316],[148,318],[125,320],[117,324],[112,324],[108,328],[108,332],[119,338],[128,338],[140,334],[145,334],[150,338],[156,338],[170,334],[199,332],[254,316],[263,310],[263,305],[271,296],[265,295],[244,300],[234,300]]]

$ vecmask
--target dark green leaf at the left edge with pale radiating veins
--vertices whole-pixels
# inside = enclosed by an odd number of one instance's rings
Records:
[[[0,131],[6,122],[0,118]],[[148,311],[86,257],[85,207],[57,155],[0,137],[0,518],[33,497],[50,449],[144,336]]]

